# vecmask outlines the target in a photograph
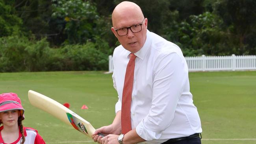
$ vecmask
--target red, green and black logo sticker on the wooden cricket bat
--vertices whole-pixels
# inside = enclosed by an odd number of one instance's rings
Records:
[[[80,121],[78,118],[76,118],[74,115],[67,113],[67,117],[69,118],[69,122],[70,124],[78,131],[82,132],[82,133],[86,133],[87,129],[85,128],[85,126],[83,125],[82,121]]]

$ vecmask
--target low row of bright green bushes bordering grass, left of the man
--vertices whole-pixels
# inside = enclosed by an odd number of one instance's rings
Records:
[[[35,41],[26,37],[2,37],[0,72],[107,70],[108,54],[96,49],[104,45],[103,41],[100,43],[87,42],[50,48],[46,39]]]

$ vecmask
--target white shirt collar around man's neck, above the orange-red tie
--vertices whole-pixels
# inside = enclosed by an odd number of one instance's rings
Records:
[[[150,46],[150,31],[147,30],[147,38],[146,38],[144,45],[138,52],[135,52],[134,54],[143,60],[148,52],[149,46]],[[127,52],[126,52],[127,58],[129,58],[130,54],[131,54],[131,52],[127,50]]]

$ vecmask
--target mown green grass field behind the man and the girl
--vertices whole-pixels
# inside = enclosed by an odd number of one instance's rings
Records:
[[[202,122],[202,144],[256,143],[256,71],[191,72],[193,100]],[[48,144],[95,144],[72,127],[32,105],[28,90],[70,103],[70,109],[95,127],[115,116],[117,92],[103,72],[0,73],[0,93],[15,92],[25,108],[24,126],[37,129]],[[87,105],[89,109],[80,109]],[[245,140],[243,140],[245,139]]]

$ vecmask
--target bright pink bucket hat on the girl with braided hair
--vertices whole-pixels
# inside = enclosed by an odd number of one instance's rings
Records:
[[[0,94],[0,112],[10,111],[14,109],[19,109],[22,115],[22,120],[24,117],[24,109],[21,105],[20,98],[15,93],[3,93]]]

